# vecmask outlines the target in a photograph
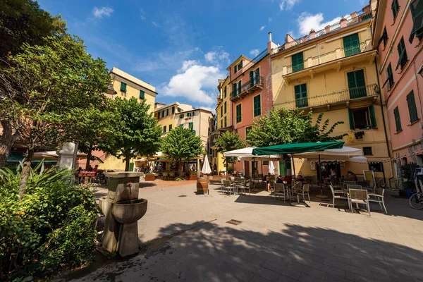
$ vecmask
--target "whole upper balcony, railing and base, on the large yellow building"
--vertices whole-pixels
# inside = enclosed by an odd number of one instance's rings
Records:
[[[350,48],[338,48],[326,54],[305,59],[302,64],[283,66],[282,76],[288,80],[298,79],[329,68],[341,69],[343,64],[358,63],[360,61],[373,61],[376,51],[372,50],[370,39]]]

